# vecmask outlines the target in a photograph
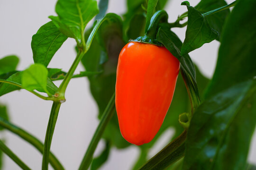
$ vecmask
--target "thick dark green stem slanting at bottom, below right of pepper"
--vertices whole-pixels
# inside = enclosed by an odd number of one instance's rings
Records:
[[[158,170],[165,169],[175,161],[178,161],[184,156],[185,153],[185,140],[187,132],[183,133],[175,138],[170,144],[165,146],[159,153],[153,158],[147,161],[139,170]],[[159,168],[160,167],[160,168]]]

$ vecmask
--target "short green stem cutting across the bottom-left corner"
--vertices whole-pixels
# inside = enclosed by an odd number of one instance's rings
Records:
[[[31,170],[28,166],[21,161],[16,154],[14,154],[1,140],[0,140],[0,150],[6,153],[13,161],[15,161],[20,168],[23,170]]]

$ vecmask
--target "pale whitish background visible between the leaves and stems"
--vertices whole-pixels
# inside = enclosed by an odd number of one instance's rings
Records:
[[[174,22],[179,14],[186,11],[181,6],[183,0],[170,0],[166,6],[169,21]],[[231,3],[233,0],[227,0]],[[199,0],[190,0],[195,6]],[[30,47],[31,37],[38,28],[50,21],[48,16],[55,15],[56,0],[0,0],[0,58],[16,54],[20,58],[18,70],[23,70],[33,63]],[[110,0],[108,12],[123,14],[126,11],[125,0]],[[185,28],[174,29],[184,40]],[[63,68],[67,71],[75,58],[75,41],[68,39],[56,52],[49,64],[50,68]],[[205,76],[211,77],[215,68],[219,42],[204,44],[200,49],[190,53]],[[76,73],[83,70],[79,65]],[[60,82],[56,82],[59,85]],[[51,150],[64,164],[67,170],[76,170],[82,161],[83,154],[98,125],[97,105],[93,101],[86,78],[73,79],[66,91],[67,101],[61,106],[55,127]],[[25,91],[16,91],[0,97],[0,103],[8,106],[11,121],[26,129],[29,133],[44,141],[47,122],[52,102],[44,101]],[[243,128],[243,127],[241,127]],[[159,151],[173,134],[169,129],[157,142],[150,155]],[[41,169],[42,155],[34,147],[19,137],[4,132],[0,134],[14,151],[33,170]],[[256,135],[250,148],[249,161],[256,163]],[[235,142],[235,141],[234,141]],[[96,150],[100,153],[102,143]],[[138,156],[138,149],[130,146],[126,150],[113,149],[109,161],[102,170],[129,170]],[[4,170],[19,170],[19,167],[4,156]]]

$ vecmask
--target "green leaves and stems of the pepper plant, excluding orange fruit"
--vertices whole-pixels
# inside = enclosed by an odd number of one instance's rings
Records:
[[[181,5],[187,12],[174,22],[168,22],[168,15],[163,10],[167,1],[127,0],[128,11],[119,16],[106,14],[108,0],[100,0],[99,4],[96,0],[57,0],[57,16],[50,16],[51,21],[32,37],[35,63],[25,70],[16,70],[17,56],[0,59],[0,96],[25,89],[42,100],[53,102],[45,141],[39,141],[11,123],[6,106],[0,106],[0,130],[9,130],[42,153],[42,170],[47,170],[49,163],[55,170],[64,170],[61,160],[50,152],[55,124],[66,100],[69,82],[72,78],[87,77],[99,108],[100,122],[79,170],[100,169],[108,160],[112,147],[125,149],[131,145],[120,133],[115,109],[119,52],[129,41],[150,43],[167,49],[179,60],[180,74],[165,120],[151,142],[137,146],[140,155],[133,169],[254,169],[255,166],[247,162],[247,154],[256,125],[256,0],[235,0],[230,4],[225,0],[201,0],[196,6],[184,1]],[[87,27],[91,20],[93,26]],[[182,42],[173,28],[185,26]],[[76,41],[77,56],[71,68],[68,72],[48,68],[67,38]],[[209,80],[188,53],[213,40],[218,40],[220,47],[216,69]],[[85,69],[74,74],[80,62]],[[55,80],[62,80],[59,87]],[[149,149],[169,127],[175,129],[170,143],[148,160]],[[100,156],[94,157],[101,138],[105,147]],[[0,150],[21,169],[30,170],[3,140],[0,140]]]

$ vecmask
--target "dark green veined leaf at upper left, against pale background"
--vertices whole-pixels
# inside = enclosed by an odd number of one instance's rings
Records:
[[[66,39],[67,36],[62,34],[52,21],[41,26],[31,41],[34,62],[47,67]]]

